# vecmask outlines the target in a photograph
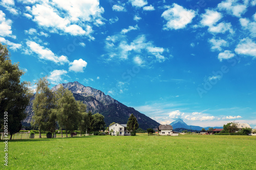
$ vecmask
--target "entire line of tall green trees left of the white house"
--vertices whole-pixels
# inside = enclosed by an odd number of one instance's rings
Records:
[[[12,64],[10,54],[5,45],[0,43],[0,127],[8,127],[12,135],[22,128],[26,118],[26,107],[33,96],[29,82],[21,82],[20,77],[25,72],[19,68],[19,63]],[[103,130],[104,116],[91,111],[81,101],[75,101],[73,93],[63,86],[52,92],[47,77],[40,78],[36,83],[35,100],[33,101],[34,116],[32,125],[40,131],[55,132],[57,126],[67,131],[80,130],[80,133]],[[4,119],[7,114],[8,118]],[[62,133],[61,133],[62,134]],[[63,134],[62,134],[63,135]]]

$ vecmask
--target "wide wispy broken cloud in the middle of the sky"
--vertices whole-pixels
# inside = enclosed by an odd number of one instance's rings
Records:
[[[129,56],[140,55],[142,60],[143,56],[147,59],[154,56],[159,62],[166,59],[163,54],[168,52],[162,47],[155,46],[152,41],[147,41],[145,35],[140,35],[129,42],[125,35],[118,34],[106,37],[105,50],[109,52],[108,60],[115,58],[126,60]]]

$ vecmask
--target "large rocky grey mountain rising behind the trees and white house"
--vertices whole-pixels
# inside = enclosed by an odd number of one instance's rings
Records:
[[[61,85],[64,88],[68,88],[72,91],[75,100],[82,101],[84,104],[86,104],[87,111],[91,110],[92,113],[102,114],[105,117],[104,120],[106,126],[109,126],[113,122],[126,124],[132,113],[138,120],[139,128],[146,130],[148,128],[158,128],[160,125],[150,117],[147,117],[132,107],[123,105],[117,100],[111,98],[111,96],[105,95],[104,92],[100,90],[83,86],[79,82],[62,83]],[[60,84],[54,86],[52,91],[57,91],[59,87]],[[30,105],[26,109],[26,112],[28,113],[27,118],[24,120],[26,123],[29,123],[31,121],[31,117],[33,116],[33,99],[34,97],[31,99]]]

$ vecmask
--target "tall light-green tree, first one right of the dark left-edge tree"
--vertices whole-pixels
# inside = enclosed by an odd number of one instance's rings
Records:
[[[39,138],[41,138],[41,131],[55,132],[56,128],[56,114],[54,109],[55,96],[49,88],[50,83],[47,77],[40,78],[36,84],[36,94],[33,101],[34,115],[32,117],[32,125],[38,127]]]

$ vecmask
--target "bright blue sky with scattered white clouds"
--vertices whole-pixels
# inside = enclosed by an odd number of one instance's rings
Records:
[[[157,122],[256,128],[256,1],[3,0],[31,88],[78,81]]]

